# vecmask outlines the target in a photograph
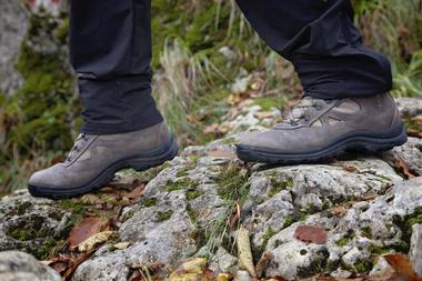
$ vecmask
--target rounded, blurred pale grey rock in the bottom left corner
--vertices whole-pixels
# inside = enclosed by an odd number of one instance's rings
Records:
[[[51,268],[41,264],[28,253],[0,252],[1,281],[60,281],[61,277]]]

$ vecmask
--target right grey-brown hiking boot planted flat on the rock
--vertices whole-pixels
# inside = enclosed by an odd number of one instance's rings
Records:
[[[237,152],[243,161],[295,164],[329,160],[348,150],[385,151],[408,137],[394,100],[382,93],[339,100],[305,97],[285,121],[240,139]]]

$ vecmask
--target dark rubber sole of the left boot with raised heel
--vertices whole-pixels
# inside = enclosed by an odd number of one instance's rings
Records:
[[[165,161],[172,160],[179,152],[178,144],[173,138],[157,149],[142,153],[134,158],[119,160],[109,165],[90,183],[78,188],[61,188],[53,189],[47,187],[28,185],[29,192],[33,197],[49,198],[53,200],[70,199],[79,197],[91,191],[101,189],[103,184],[111,181],[114,178],[115,172],[122,169],[132,168],[137,171],[144,171],[153,167],[161,165]]]

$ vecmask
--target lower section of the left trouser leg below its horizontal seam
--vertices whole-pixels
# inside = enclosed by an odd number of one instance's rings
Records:
[[[79,79],[78,82],[86,108],[82,112],[83,133],[124,133],[163,121],[151,96],[149,77]]]

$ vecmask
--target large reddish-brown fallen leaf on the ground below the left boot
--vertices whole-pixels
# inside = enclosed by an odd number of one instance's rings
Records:
[[[107,224],[107,219],[101,219],[97,217],[86,218],[70,231],[70,248],[79,245],[82,241],[102,231]]]

